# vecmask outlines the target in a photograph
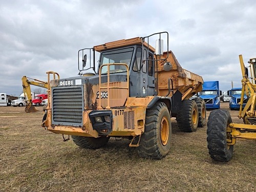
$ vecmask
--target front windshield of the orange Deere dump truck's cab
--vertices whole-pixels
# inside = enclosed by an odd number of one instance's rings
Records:
[[[133,47],[102,52],[100,56],[99,66],[102,66],[103,64],[108,64],[108,63],[126,63],[130,67],[133,52],[134,52]],[[110,66],[110,73],[120,73],[120,72],[126,72],[125,66],[121,66],[121,65]],[[101,74],[106,74],[106,73],[108,73],[108,67],[103,66]]]

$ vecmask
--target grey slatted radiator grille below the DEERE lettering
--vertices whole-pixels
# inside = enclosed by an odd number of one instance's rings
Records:
[[[82,125],[82,87],[55,88],[52,92],[53,123]]]

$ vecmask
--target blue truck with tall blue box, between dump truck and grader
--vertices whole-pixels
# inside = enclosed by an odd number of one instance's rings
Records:
[[[200,97],[205,101],[206,110],[220,109],[220,95],[219,81],[204,81]]]

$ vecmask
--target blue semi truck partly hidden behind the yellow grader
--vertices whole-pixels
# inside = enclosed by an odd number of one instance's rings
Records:
[[[242,94],[242,88],[232,88],[231,90],[228,90],[228,95],[230,96],[230,101],[229,101],[230,110],[240,109],[241,94]],[[247,101],[248,101],[248,98],[246,95],[244,95],[243,105],[242,105],[243,108],[245,107],[245,104],[247,103]]]

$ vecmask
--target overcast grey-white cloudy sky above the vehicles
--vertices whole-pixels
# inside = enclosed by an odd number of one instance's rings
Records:
[[[182,68],[225,92],[231,81],[242,87],[239,55],[256,57],[253,0],[0,1],[0,92],[9,95],[24,75],[77,76],[79,49],[161,31]]]

